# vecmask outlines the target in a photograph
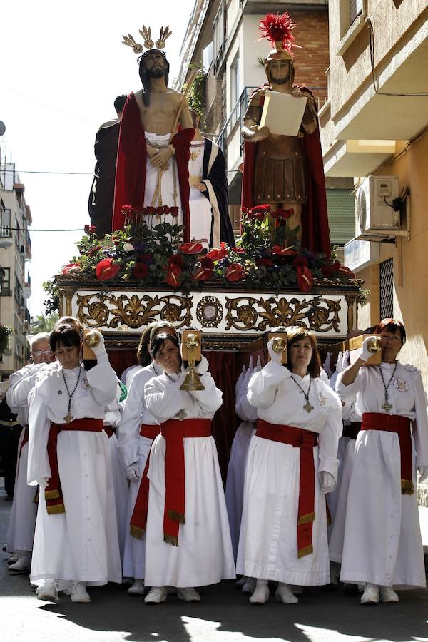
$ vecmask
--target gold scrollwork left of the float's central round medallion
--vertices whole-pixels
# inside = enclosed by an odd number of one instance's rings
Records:
[[[193,297],[119,295],[91,292],[77,297],[77,317],[89,327],[136,329],[152,321],[170,321],[177,328],[190,325]]]

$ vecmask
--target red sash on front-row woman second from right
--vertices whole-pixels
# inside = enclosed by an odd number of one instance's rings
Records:
[[[258,419],[257,437],[300,448],[299,508],[297,513],[297,557],[313,553],[312,526],[315,520],[314,447],[317,433],[295,426],[270,424]]]

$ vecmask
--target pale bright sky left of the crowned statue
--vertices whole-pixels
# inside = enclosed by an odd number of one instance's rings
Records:
[[[33,218],[32,259],[27,263],[32,316],[44,313],[41,283],[77,252],[75,243],[89,223],[96,131],[115,118],[113,101],[118,94],[141,87],[137,56],[121,44],[122,34],[141,41],[138,29],[143,24],[151,26],[156,37],[161,26],[170,26],[173,35],[165,52],[171,84],[194,4],[194,0],[1,4],[0,121],[6,132],[0,147],[2,159],[6,153],[6,161],[11,156],[16,163]],[[81,231],[36,232],[76,228]]]

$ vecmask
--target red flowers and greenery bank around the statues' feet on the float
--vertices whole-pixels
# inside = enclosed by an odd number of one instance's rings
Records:
[[[299,228],[290,230],[286,225],[292,210],[270,212],[269,205],[243,208],[236,246],[221,243],[206,254],[197,241],[182,243],[183,228],[166,222],[166,218],[174,220],[175,208],[137,211],[126,205],[122,212],[125,228],[102,240],[96,238],[93,225],[85,226],[85,235],[77,243],[78,255],[63,267],[62,275],[100,282],[137,281],[152,287],[165,283],[183,292],[204,282],[220,287],[239,282],[248,289],[297,287],[309,292],[315,280],[346,284],[354,278],[335,255],[327,257],[302,247]]]

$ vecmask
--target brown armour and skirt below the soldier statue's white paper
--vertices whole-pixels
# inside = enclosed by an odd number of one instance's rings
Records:
[[[302,139],[268,136],[255,156],[255,203],[307,203],[307,167]]]

